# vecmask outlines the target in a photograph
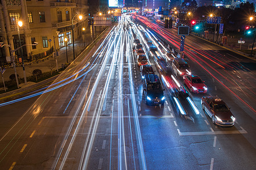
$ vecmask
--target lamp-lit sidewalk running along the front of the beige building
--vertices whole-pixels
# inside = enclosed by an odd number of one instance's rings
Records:
[[[103,31],[103,29],[98,30],[97,29],[97,35],[100,35],[100,33]],[[75,40],[75,57],[77,57],[82,50],[85,49],[87,45],[89,45],[93,40],[90,35],[89,30],[86,31],[85,33],[85,41],[83,39],[84,35],[82,34],[77,40]],[[94,37],[95,39],[96,37]],[[85,42],[85,46],[84,46]],[[71,63],[73,61],[73,45],[70,44],[67,46],[67,53],[68,53],[68,62]],[[59,56],[57,57],[57,64],[58,68],[61,68],[61,65],[67,63],[67,56],[66,56],[66,47],[64,46],[63,48],[60,48],[59,50]],[[43,61],[39,63],[31,63],[30,65],[25,65],[25,71],[26,71],[26,76],[31,76],[32,71],[35,69],[40,69],[42,72],[48,72],[52,70],[56,70],[56,61],[55,58],[53,58],[52,55],[49,56],[49,58],[44,59]],[[24,78],[23,76],[23,70],[22,66],[16,66],[16,72],[19,75],[19,78]],[[13,67],[7,67],[5,70],[5,73],[3,74],[3,78],[5,81],[10,80],[9,76],[11,74],[14,74],[14,69]],[[2,78],[1,78],[2,82]]]

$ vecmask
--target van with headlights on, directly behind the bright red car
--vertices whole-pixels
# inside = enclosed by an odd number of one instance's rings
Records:
[[[176,76],[191,74],[191,69],[183,58],[174,58],[174,60],[172,60],[172,71]]]

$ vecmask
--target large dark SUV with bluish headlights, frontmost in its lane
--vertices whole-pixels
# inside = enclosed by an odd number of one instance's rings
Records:
[[[158,75],[146,74],[143,79],[143,92],[146,97],[146,104],[158,105],[164,104],[165,97],[163,94],[162,83]]]

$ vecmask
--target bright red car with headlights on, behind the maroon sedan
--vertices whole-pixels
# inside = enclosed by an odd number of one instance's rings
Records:
[[[185,74],[183,76],[183,82],[189,88],[189,90],[195,94],[207,93],[207,86],[198,75]]]

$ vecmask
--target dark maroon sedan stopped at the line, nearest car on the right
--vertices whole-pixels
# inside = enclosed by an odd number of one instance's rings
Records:
[[[236,118],[226,103],[220,97],[203,96],[202,109],[212,119],[213,124],[220,126],[233,126]]]

